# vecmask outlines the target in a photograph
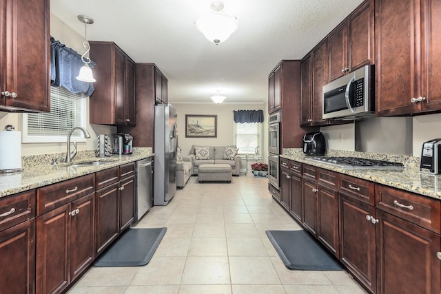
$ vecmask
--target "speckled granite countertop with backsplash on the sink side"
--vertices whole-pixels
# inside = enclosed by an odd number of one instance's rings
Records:
[[[66,164],[51,165],[53,154],[41,156],[25,156],[22,159],[23,171],[12,174],[0,174],[0,198],[22,191],[43,187],[70,178],[77,178],[96,171],[117,167],[128,162],[134,162],[152,157],[152,148],[134,148],[130,155],[110,156],[99,158],[94,151],[83,151],[72,160],[72,165],[95,160],[109,160],[105,165],[72,167]]]

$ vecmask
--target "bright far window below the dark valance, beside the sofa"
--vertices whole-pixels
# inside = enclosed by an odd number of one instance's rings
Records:
[[[234,143],[239,149],[239,154],[256,154],[257,152],[260,155],[261,134],[261,123],[235,123]]]

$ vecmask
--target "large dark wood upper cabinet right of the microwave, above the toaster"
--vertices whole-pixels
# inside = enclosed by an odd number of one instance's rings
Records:
[[[441,110],[440,1],[376,0],[379,116]]]

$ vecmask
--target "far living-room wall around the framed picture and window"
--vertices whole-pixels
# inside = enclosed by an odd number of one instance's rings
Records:
[[[233,110],[258,110],[262,109],[265,113],[263,122],[263,146],[260,146],[260,153],[267,154],[267,103],[262,104],[181,104],[172,103],[178,112],[178,144],[182,149],[183,155],[189,154],[192,145],[223,146],[233,145]],[[218,116],[217,138],[185,138],[185,114],[210,114]],[[263,160],[267,160],[263,156]]]

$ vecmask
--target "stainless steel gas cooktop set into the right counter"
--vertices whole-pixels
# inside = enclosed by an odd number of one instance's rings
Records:
[[[314,156],[306,159],[320,162],[323,165],[340,167],[340,169],[404,169],[404,165],[399,162],[367,158]]]

